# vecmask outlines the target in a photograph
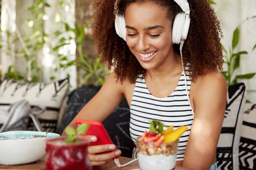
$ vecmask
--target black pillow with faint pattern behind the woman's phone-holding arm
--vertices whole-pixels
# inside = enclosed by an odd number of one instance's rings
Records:
[[[59,134],[74,119],[83,106],[96,95],[100,86],[82,87],[74,90],[68,98],[67,110],[63,115]],[[123,157],[132,157],[132,148],[134,146],[129,132],[130,108],[125,99],[123,99],[115,110],[102,122],[110,136],[113,144],[119,148]]]

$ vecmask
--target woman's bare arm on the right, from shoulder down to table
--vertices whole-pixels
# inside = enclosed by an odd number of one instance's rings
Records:
[[[225,114],[227,83],[222,73],[199,76],[191,86],[194,120],[183,167],[209,170],[216,161],[216,147]]]

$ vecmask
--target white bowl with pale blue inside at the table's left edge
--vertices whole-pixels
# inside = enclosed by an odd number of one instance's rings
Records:
[[[37,131],[0,133],[0,164],[17,165],[38,161],[46,155],[46,139],[58,136],[56,133]]]

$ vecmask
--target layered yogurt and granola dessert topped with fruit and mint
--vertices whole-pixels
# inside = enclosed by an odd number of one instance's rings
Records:
[[[176,163],[179,137],[188,130],[186,126],[180,126],[173,130],[165,126],[161,121],[150,121],[149,132],[137,139],[137,151],[139,168],[141,170],[173,170]]]

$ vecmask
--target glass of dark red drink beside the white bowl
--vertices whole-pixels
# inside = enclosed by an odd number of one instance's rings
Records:
[[[65,142],[65,137],[55,137],[46,141],[47,170],[91,170],[87,148],[89,139]]]

